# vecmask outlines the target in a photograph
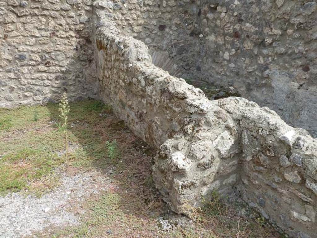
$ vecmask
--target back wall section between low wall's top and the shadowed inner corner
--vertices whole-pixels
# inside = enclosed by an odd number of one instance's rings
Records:
[[[195,77],[202,42],[201,37],[194,37],[200,25],[199,1],[97,0],[94,4],[113,19],[122,34],[146,43],[155,65],[173,76]]]

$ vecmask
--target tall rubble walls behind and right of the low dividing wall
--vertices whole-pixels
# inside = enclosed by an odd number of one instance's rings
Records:
[[[113,16],[172,59],[172,74],[234,87],[317,136],[316,8],[307,0],[149,0],[117,3]]]

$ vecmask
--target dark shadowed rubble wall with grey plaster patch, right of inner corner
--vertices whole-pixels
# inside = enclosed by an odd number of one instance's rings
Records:
[[[317,136],[317,3],[202,1],[197,75]]]

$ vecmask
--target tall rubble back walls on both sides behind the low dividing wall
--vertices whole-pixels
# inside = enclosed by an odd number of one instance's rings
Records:
[[[56,99],[64,88],[96,97],[92,2],[171,75],[234,87],[317,136],[317,4],[307,0],[0,1],[0,43],[10,46],[0,106]]]

